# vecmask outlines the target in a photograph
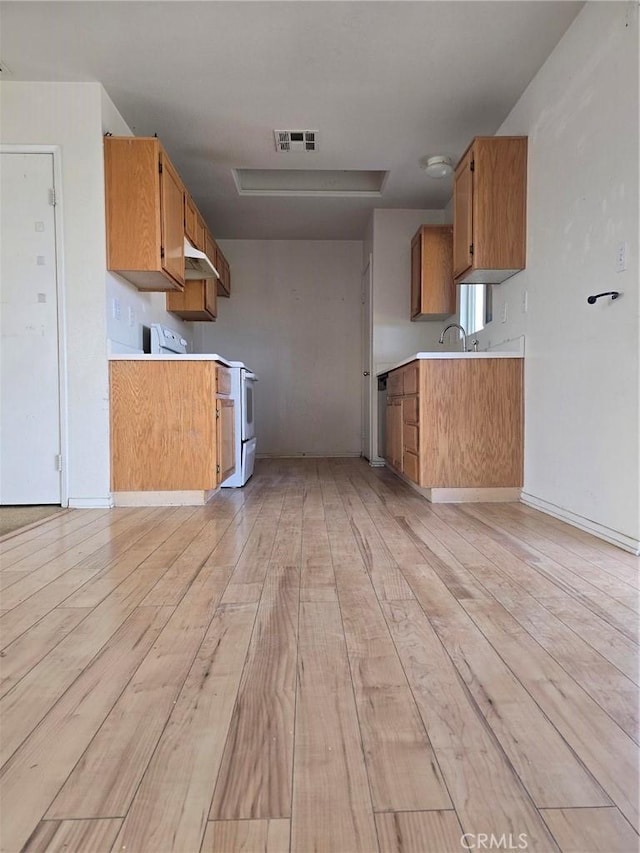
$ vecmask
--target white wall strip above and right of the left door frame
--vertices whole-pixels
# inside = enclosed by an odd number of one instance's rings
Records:
[[[0,84],[2,142],[62,154],[71,505],[109,501],[104,179],[98,83]]]

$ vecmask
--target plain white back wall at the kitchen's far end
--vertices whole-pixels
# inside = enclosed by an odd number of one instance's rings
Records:
[[[259,455],[359,455],[362,243],[221,240],[231,298],[197,349],[256,371]]]

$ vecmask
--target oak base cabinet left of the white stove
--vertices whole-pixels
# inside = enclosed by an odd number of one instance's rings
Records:
[[[113,492],[211,491],[234,468],[233,400],[211,361],[114,360]]]

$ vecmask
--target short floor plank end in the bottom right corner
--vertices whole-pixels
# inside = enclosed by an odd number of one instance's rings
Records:
[[[638,836],[618,809],[544,809],[562,853],[637,853]]]

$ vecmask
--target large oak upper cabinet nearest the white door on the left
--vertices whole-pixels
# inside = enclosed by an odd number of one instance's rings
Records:
[[[184,187],[155,138],[104,140],[107,268],[139,290],[184,287]]]

